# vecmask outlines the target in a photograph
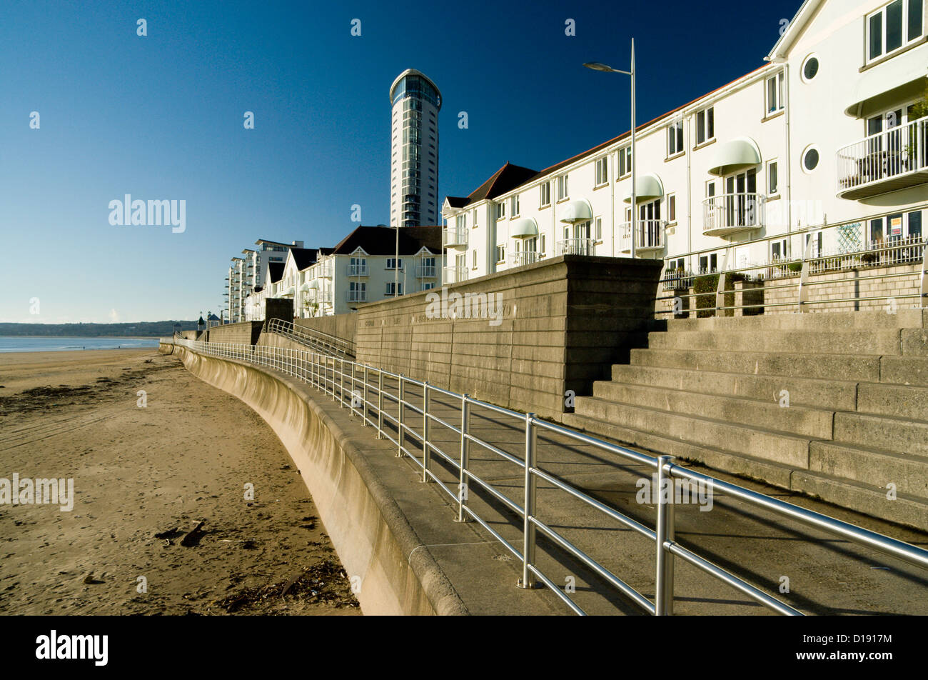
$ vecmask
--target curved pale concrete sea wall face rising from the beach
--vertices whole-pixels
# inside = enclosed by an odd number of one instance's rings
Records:
[[[162,346],[166,351],[167,346]],[[277,433],[303,475],[366,614],[467,614],[444,571],[338,424],[289,376],[174,347],[187,370],[241,399]]]

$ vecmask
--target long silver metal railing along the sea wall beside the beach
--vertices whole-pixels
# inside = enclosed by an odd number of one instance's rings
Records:
[[[367,364],[356,363],[338,357],[310,352],[308,350],[285,349],[226,343],[203,343],[190,340],[174,340],[176,345],[207,356],[226,360],[241,360],[264,366],[282,373],[292,375],[298,380],[329,395],[340,402],[342,407],[351,409],[352,415],[361,418],[361,425],[376,428],[377,438],[386,438],[396,446],[397,457],[407,457],[421,470],[422,481],[435,482],[439,489],[451,499],[456,509],[458,521],[474,520],[493,538],[501,543],[509,553],[522,563],[522,580],[520,586],[533,588],[543,583],[557,595],[574,613],[584,614],[569,593],[558,585],[538,567],[536,559],[536,539],[538,533],[548,539],[568,555],[579,560],[591,569],[599,578],[612,588],[625,595],[631,602],[649,614],[670,615],[674,609],[674,559],[679,557],[696,569],[708,574],[720,582],[727,583],[735,590],[747,595],[761,605],[780,614],[802,615],[803,612],[793,608],[777,597],[768,594],[727,569],[723,569],[690,548],[677,543],[675,538],[674,506],[677,493],[685,492],[683,485],[703,485],[702,488],[722,492],[728,497],[739,499],[756,508],[763,508],[782,518],[798,521],[808,527],[824,530],[833,536],[857,545],[868,546],[886,555],[906,560],[910,564],[928,569],[928,551],[897,541],[874,531],[865,530],[852,524],[806,510],[786,503],[780,499],[766,496],[756,491],[747,490],[730,484],[716,477],[710,477],[672,462],[671,456],[651,456],[638,451],[590,437],[561,425],[548,423],[538,418],[535,413],[519,413],[494,404],[471,399],[467,394],[458,394],[427,382],[407,378],[403,374],[390,373]],[[388,385],[393,382],[394,386]],[[445,403],[454,404],[457,418],[443,419],[434,409],[434,401],[444,399]],[[396,414],[388,412],[389,403],[396,405]],[[475,409],[491,412],[495,420],[507,419],[524,432],[522,457],[503,451],[500,446],[480,437],[483,428],[471,428]],[[407,418],[407,415],[412,415]],[[417,416],[420,416],[417,417]],[[453,422],[449,422],[453,421]],[[456,425],[459,423],[459,425]],[[441,441],[432,435],[432,426],[437,425],[455,433],[454,451],[444,451]],[[654,529],[647,527],[632,517],[627,517],[615,508],[599,502],[583,490],[566,483],[557,474],[544,469],[537,460],[537,438],[539,433],[558,436],[568,442],[593,447],[605,451],[625,463],[641,464],[656,474],[658,490],[673,489],[673,493],[657,493],[656,517]],[[409,442],[416,442],[412,444]],[[570,446],[571,444],[565,445]],[[446,446],[446,445],[445,445]],[[480,447],[483,453],[489,453],[496,459],[512,464],[522,477],[522,503],[510,498],[499,487],[479,477],[472,469],[470,449]],[[478,458],[482,458],[480,456]],[[449,486],[436,472],[436,461],[444,461],[456,475],[457,488]],[[444,464],[442,468],[445,469]],[[552,485],[573,497],[600,515],[612,519],[625,529],[632,530],[646,537],[655,544],[656,569],[654,574],[653,601],[640,591],[628,585],[603,564],[587,555],[586,552],[569,541],[560,531],[545,523],[537,504],[536,486],[538,480]],[[675,481],[679,480],[679,482]],[[508,482],[507,482],[508,484]],[[517,525],[522,527],[522,541],[510,543],[497,531],[495,520],[481,517],[470,503],[470,489],[480,490],[485,498],[502,503],[508,511],[518,518]],[[698,513],[697,513],[698,514]],[[491,523],[492,522],[492,523]],[[501,530],[501,528],[500,528]],[[521,544],[519,544],[521,543]]]

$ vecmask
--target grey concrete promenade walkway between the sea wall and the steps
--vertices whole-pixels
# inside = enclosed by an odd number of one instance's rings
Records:
[[[237,363],[237,362],[229,362]],[[275,375],[298,389],[303,398],[312,399],[320,412],[338,426],[376,471],[385,490],[418,537],[411,552],[426,550],[434,564],[472,614],[561,614],[569,609],[556,595],[539,589],[524,591],[516,587],[521,564],[483,528],[474,522],[458,524],[457,503],[435,483],[422,483],[421,470],[408,457],[397,459],[396,446],[388,439],[377,439],[376,428],[362,426],[360,417],[341,408],[329,395],[303,385],[265,367],[256,369]],[[372,375],[373,377],[373,375]],[[371,385],[373,382],[371,381]],[[396,385],[385,381],[385,389],[395,393]],[[368,390],[376,404],[376,393]],[[420,393],[406,390],[406,399],[420,403]],[[457,399],[432,393],[432,413],[446,423],[460,425]],[[384,411],[395,417],[393,401],[384,399]],[[376,414],[373,415],[376,421]],[[421,431],[422,416],[408,410],[405,422]],[[385,419],[384,428],[395,438],[395,427]],[[524,424],[508,420],[495,412],[471,409],[470,433],[493,442],[496,447],[522,459]],[[278,432],[278,436],[280,432]],[[285,444],[287,440],[281,437]],[[442,425],[433,424],[431,439],[449,456],[458,459],[459,436]],[[421,459],[418,438],[406,436],[406,449]],[[575,487],[585,490],[628,517],[653,528],[655,505],[638,503],[636,481],[650,477],[651,470],[611,459],[610,454],[589,446],[561,441],[539,433],[538,466]],[[515,503],[522,503],[523,471],[516,464],[470,445],[470,470],[492,483]],[[451,489],[457,489],[458,475],[437,452],[432,453],[432,472]],[[788,497],[790,502],[831,517],[876,530],[893,538],[928,545],[928,535],[841,510],[826,503],[793,497],[735,477],[713,473],[715,477],[740,484],[768,495]],[[316,492],[314,491],[314,495]],[[470,485],[470,507],[517,548],[522,546],[522,519],[509,511],[479,485]],[[636,590],[653,598],[654,543],[569,496],[538,480],[537,515],[561,532],[587,555]],[[323,517],[325,520],[325,517]],[[841,539],[810,530],[793,520],[782,520],[767,511],[727,499],[715,493],[711,511],[697,504],[677,505],[677,542],[689,547],[716,565],[728,569],[770,595],[780,597],[810,614],[928,614],[928,574],[896,558],[858,548]],[[338,543],[336,543],[338,547]],[[341,554],[341,553],[340,553]],[[409,556],[407,556],[408,559]],[[566,555],[539,532],[536,564],[552,582],[566,586],[574,580],[574,601],[592,614],[638,614],[641,609],[624,595],[594,576],[589,569]],[[783,577],[789,580],[789,593],[781,593]],[[766,608],[711,576],[676,560],[675,613],[767,614]],[[362,597],[362,606],[364,599]]]

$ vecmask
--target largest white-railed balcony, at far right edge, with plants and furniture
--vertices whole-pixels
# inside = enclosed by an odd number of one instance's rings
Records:
[[[856,201],[928,182],[928,117],[839,149],[838,197]]]

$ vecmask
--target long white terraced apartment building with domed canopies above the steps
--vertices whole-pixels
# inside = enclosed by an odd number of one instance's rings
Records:
[[[726,253],[728,268],[764,264],[802,247],[773,237],[826,223],[848,223],[842,238],[863,244],[920,240],[926,13],[926,0],[806,0],[766,65],[639,125],[636,255],[690,272],[720,268]],[[507,163],[447,197],[445,281],[562,254],[630,255],[630,142],[537,173]]]

